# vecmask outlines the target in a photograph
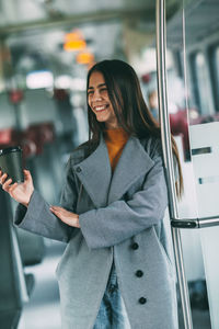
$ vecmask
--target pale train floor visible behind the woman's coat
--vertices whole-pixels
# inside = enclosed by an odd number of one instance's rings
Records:
[[[60,329],[59,292],[55,276],[65,245],[46,240],[46,256],[41,264],[25,268],[35,285],[30,302],[24,306],[18,329]],[[180,329],[184,329],[178,311]],[[208,310],[193,309],[194,329],[210,329]],[[146,328],[147,329],[147,328]]]

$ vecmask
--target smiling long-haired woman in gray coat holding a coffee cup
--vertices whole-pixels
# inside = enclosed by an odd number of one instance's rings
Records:
[[[160,128],[128,64],[97,63],[87,89],[90,138],[70,156],[61,207],[28,171],[22,184],[0,173],[20,203],[15,224],[68,242],[57,269],[62,328],[176,329]]]

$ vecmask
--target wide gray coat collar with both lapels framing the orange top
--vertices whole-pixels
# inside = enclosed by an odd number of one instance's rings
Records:
[[[101,137],[95,151],[73,168],[93,204],[99,208],[119,200],[153,163],[140,140],[130,136],[112,177],[107,147]]]

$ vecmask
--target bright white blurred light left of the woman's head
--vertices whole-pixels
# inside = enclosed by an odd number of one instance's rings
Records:
[[[28,89],[51,88],[54,76],[50,71],[32,71],[26,76],[26,87]]]

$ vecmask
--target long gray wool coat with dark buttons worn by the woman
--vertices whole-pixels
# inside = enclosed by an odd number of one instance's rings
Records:
[[[61,328],[93,328],[114,260],[131,329],[176,329],[161,143],[129,137],[113,175],[103,137],[89,156],[74,150],[61,205],[79,214],[81,228],[61,223],[36,191],[15,214],[21,228],[68,242],[57,268]]]

